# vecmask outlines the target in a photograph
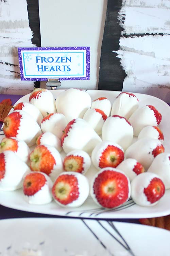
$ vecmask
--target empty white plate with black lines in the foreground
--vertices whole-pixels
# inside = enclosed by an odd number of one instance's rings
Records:
[[[0,227],[3,256],[169,256],[170,251],[169,231],[139,224],[19,218],[1,220]]]

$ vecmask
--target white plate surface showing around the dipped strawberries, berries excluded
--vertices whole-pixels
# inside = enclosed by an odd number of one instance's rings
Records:
[[[54,90],[52,93],[56,98],[58,94],[63,90]],[[120,94],[119,91],[101,91],[101,90],[87,90],[87,93],[91,96],[91,99],[97,99],[99,97],[107,97],[111,103]],[[137,94],[139,99],[139,106],[154,105],[157,110],[162,114],[162,122],[159,127],[164,134],[164,147],[165,152],[170,153],[170,107],[164,101],[155,98],[150,95]],[[20,98],[19,102],[29,102],[29,94]],[[0,137],[1,141],[2,137]],[[91,177],[97,172],[94,166],[88,170],[86,176],[90,180]],[[140,207],[136,205],[131,199],[114,210],[102,209],[94,203],[89,196],[85,203],[79,208],[62,208],[54,201],[46,205],[29,205],[23,200],[22,190],[16,191],[0,191],[0,204],[28,212],[45,213],[61,216],[73,216],[73,217],[91,217],[91,218],[150,218],[159,217],[170,214],[170,189],[166,190],[164,197],[153,207]]]

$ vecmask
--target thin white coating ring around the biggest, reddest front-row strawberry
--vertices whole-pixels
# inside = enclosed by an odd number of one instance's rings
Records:
[[[92,179],[91,184],[90,184],[90,195],[91,195],[92,199],[94,200],[94,202],[97,203],[100,207],[101,207],[101,205],[100,205],[100,203],[99,203],[99,202],[97,201],[97,199],[96,199],[96,195],[95,195],[95,193],[94,193],[93,185],[94,185],[94,182],[95,182],[96,178],[98,177],[98,175],[99,175],[100,173],[104,172],[105,170],[106,170],[106,171],[108,170],[108,171],[120,172],[120,173],[124,174],[121,170],[118,170],[118,169],[112,168],[112,167],[103,168],[103,169],[101,169],[99,172],[96,173],[96,175],[94,176],[94,178]],[[125,174],[124,174],[124,175],[125,175]],[[125,176],[126,176],[126,175],[125,175]],[[128,176],[126,176],[126,178],[127,178],[127,180],[128,180],[129,194],[128,194],[128,198],[126,199],[125,202],[127,202],[127,201],[129,200],[130,196],[131,196],[131,183],[130,183],[130,180],[129,180]]]

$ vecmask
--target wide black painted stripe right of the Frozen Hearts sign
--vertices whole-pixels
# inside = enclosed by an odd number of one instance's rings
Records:
[[[112,52],[119,49],[119,40],[123,31],[118,20],[122,2],[122,0],[108,0],[107,2],[106,20],[101,47],[99,90],[122,91],[123,81],[126,77],[120,59],[117,57],[118,54]],[[123,22],[122,20],[122,23]]]

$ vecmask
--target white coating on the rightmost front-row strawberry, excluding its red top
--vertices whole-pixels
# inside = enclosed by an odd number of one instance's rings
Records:
[[[141,206],[152,206],[158,203],[151,203],[148,201],[146,195],[143,193],[143,189],[147,188],[152,179],[158,177],[158,175],[151,172],[143,172],[137,175],[131,182],[131,197],[136,204]]]

